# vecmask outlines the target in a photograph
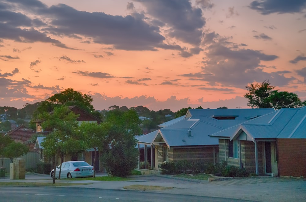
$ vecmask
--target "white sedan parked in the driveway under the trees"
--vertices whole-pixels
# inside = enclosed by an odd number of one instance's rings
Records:
[[[56,166],[55,178],[58,178],[60,165]],[[62,163],[61,178],[83,178],[92,177],[94,175],[94,167],[85,161],[66,161]],[[51,170],[50,176],[53,179],[54,169]]]

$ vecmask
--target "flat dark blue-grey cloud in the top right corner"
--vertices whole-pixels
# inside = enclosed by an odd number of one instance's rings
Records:
[[[249,8],[263,15],[271,13],[300,13],[306,8],[305,0],[257,0],[253,1]]]

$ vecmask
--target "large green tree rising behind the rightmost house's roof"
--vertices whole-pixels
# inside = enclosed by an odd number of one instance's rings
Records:
[[[306,102],[302,102],[297,94],[287,91],[274,90],[269,80],[261,84],[250,84],[246,86],[248,93],[244,95],[248,99],[248,106],[252,108],[293,108],[302,107]]]

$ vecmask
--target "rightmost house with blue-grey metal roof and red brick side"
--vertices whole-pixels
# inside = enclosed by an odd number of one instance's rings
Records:
[[[306,176],[306,107],[282,108],[211,134],[219,161],[258,175]]]

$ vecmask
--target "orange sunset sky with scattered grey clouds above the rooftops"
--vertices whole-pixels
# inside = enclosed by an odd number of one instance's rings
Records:
[[[264,80],[304,101],[305,77],[306,0],[0,0],[0,106],[246,108]]]

